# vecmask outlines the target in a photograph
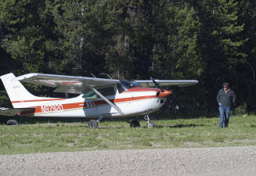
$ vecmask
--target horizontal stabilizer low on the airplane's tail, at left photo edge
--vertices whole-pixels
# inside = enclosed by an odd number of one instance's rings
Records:
[[[27,113],[34,113],[34,108],[0,108],[0,115],[2,116],[15,116]]]

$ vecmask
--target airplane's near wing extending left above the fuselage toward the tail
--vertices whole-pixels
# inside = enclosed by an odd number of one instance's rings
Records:
[[[82,94],[93,88],[100,88],[119,83],[119,80],[96,77],[73,77],[57,74],[24,74],[16,80],[56,88],[54,92]]]

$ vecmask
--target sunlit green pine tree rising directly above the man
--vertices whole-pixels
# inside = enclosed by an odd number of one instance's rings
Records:
[[[216,23],[217,35],[222,48],[223,59],[228,59],[229,67],[244,63],[247,54],[242,51],[242,47],[247,38],[243,38],[244,23],[239,21],[239,6],[237,0],[218,0]]]

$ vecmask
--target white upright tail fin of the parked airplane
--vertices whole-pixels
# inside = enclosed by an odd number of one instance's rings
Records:
[[[39,99],[39,97],[28,92],[20,81],[16,81],[14,74],[5,74],[0,78],[2,79],[2,83],[5,86],[5,90],[9,95],[9,99],[11,100],[14,108],[27,107],[27,103],[25,103],[26,100]]]

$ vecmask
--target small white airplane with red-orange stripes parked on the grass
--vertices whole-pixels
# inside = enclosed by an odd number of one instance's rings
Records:
[[[196,80],[137,80],[120,81],[96,77],[73,77],[56,74],[24,74],[0,77],[13,108],[0,108],[0,115],[27,117],[85,117],[88,128],[98,128],[103,118],[145,116],[147,127],[155,124],[149,114],[160,109],[171,91],[161,86],[190,86]],[[46,98],[31,95],[20,83],[40,84],[56,88],[54,92],[79,94],[70,99]],[[142,87],[143,86],[143,87]],[[157,87],[157,88],[152,88]],[[138,120],[128,121],[139,127]]]

